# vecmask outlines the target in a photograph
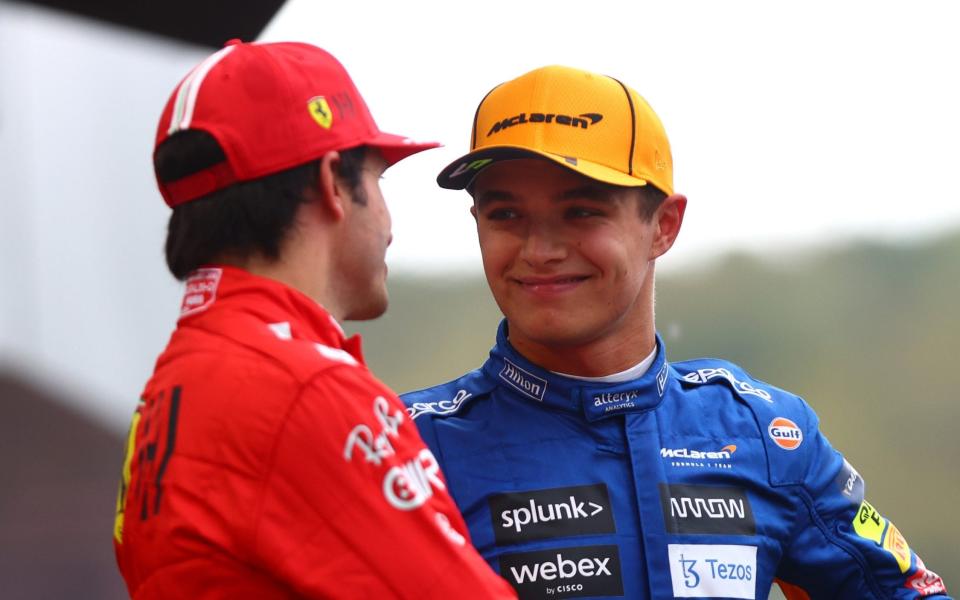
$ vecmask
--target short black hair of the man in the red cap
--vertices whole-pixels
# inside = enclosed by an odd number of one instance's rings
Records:
[[[352,198],[366,204],[360,187],[366,147],[340,151],[337,176]],[[205,131],[186,130],[163,142],[154,155],[157,178],[165,183],[187,177],[226,160],[216,139]],[[184,280],[194,269],[219,257],[259,255],[277,260],[280,247],[301,204],[319,176],[318,160],[243,181],[174,207],[167,226],[167,267]]]

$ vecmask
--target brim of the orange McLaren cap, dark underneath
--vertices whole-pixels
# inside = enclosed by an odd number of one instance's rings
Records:
[[[590,179],[613,185],[626,187],[647,185],[647,180],[642,177],[627,175],[622,171],[599,163],[572,156],[561,156],[550,152],[531,150],[521,146],[488,146],[465,154],[440,171],[440,174],[437,175],[437,184],[448,190],[462,190],[470,185],[480,171],[490,165],[503,160],[517,160],[520,158],[545,158]]]

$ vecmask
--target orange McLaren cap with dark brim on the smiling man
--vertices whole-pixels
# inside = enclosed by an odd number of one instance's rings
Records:
[[[464,189],[495,161],[541,157],[591,179],[650,183],[673,193],[667,134],[647,101],[620,81],[551,66],[493,88],[473,119],[470,153],[437,177]]]

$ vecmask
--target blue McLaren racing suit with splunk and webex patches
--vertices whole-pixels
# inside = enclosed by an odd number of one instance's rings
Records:
[[[595,383],[507,341],[403,396],[473,543],[521,599],[946,598],[799,397],[736,365]]]

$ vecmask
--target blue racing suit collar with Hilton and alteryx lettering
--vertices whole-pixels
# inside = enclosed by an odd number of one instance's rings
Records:
[[[486,374],[505,390],[532,402],[581,412],[588,421],[656,408],[663,399],[670,368],[663,340],[657,334],[657,354],[646,374],[620,383],[571,379],[539,367],[518,353],[507,339],[507,321],[500,322],[497,344],[483,365]]]

